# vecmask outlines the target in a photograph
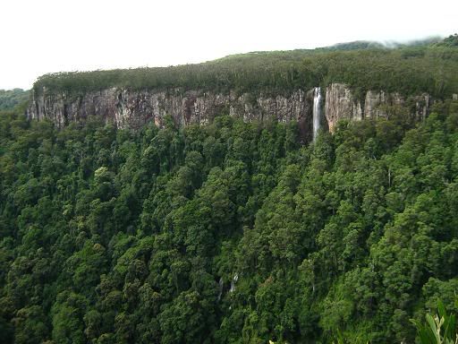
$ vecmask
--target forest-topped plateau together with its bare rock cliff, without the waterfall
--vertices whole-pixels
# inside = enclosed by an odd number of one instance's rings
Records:
[[[369,47],[369,46],[368,46]],[[34,85],[28,115],[58,126],[98,116],[118,127],[245,121],[299,121],[311,133],[311,94],[323,90],[324,126],[340,118],[428,115],[458,93],[458,49],[438,43],[397,49],[294,50],[227,56],[168,68],[57,73]],[[394,107],[403,107],[394,108]]]

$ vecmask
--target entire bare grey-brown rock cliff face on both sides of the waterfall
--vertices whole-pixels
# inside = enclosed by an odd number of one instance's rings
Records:
[[[331,132],[340,119],[361,120],[389,116],[390,107],[408,107],[411,116],[422,119],[428,115],[431,99],[422,94],[403,99],[397,93],[369,90],[356,98],[347,86],[332,83],[324,94],[323,125]],[[41,120],[49,118],[63,127],[84,121],[88,116],[100,116],[117,127],[139,128],[149,121],[163,125],[171,115],[177,125],[205,125],[215,116],[229,114],[244,121],[298,121],[302,137],[309,140],[312,128],[313,90],[295,90],[289,96],[267,96],[245,93],[237,95],[202,90],[120,90],[106,89],[81,95],[41,90],[32,94],[28,116]]]

